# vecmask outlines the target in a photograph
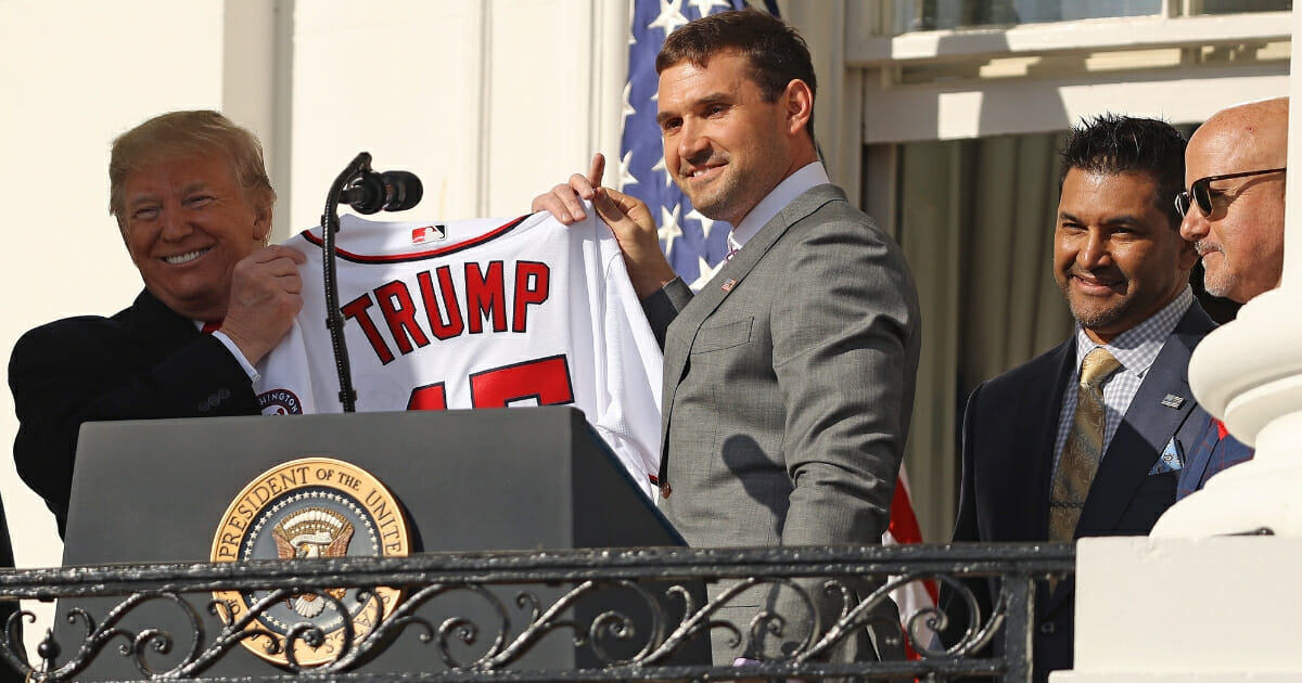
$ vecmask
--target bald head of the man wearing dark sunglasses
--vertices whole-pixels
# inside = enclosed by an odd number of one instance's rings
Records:
[[[1289,100],[1251,101],[1216,112],[1189,139],[1185,186],[1208,177],[1288,164]],[[1204,181],[1211,213],[1194,202],[1180,232],[1198,246],[1207,291],[1245,303],[1275,289],[1284,272],[1286,173]]]

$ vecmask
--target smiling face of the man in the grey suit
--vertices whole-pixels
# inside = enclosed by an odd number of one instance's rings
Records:
[[[715,53],[704,66],[681,61],[660,73],[665,168],[697,211],[737,225],[783,178],[816,159],[805,131],[810,111],[812,94],[801,81],[764,101],[736,51]]]

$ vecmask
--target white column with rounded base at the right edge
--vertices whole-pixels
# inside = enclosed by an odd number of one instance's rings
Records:
[[[1302,14],[1293,13],[1294,34]],[[1292,73],[1302,55],[1293,44]],[[1302,100],[1302,79],[1289,81]],[[1302,139],[1302,108],[1289,109],[1289,138]],[[1298,160],[1298,163],[1294,163]],[[1289,167],[1302,168],[1302,144],[1289,146]],[[1189,363],[1189,384],[1199,403],[1230,433],[1256,448],[1251,462],[1212,477],[1206,489],[1176,503],[1154,536],[1190,537],[1268,528],[1302,536],[1302,182],[1288,183],[1284,282],[1253,299],[1238,319],[1212,332]]]

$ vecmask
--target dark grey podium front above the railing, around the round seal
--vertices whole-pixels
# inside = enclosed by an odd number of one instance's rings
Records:
[[[89,423],[64,563],[207,561],[240,492],[306,457],[379,479],[413,552],[685,545],[581,411],[525,407]]]

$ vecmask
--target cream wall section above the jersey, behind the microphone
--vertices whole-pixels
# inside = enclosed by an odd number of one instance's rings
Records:
[[[316,225],[329,182],[362,150],[379,169],[421,177],[426,194],[413,216],[527,212],[534,195],[587,168],[603,134],[617,144],[609,126],[591,125],[590,101],[603,77],[622,78],[624,66],[602,60],[608,52],[592,33],[622,8],[401,0],[378,12],[344,0],[297,3],[292,200],[281,215],[288,208],[294,230]],[[618,105],[615,92],[609,107]]]

